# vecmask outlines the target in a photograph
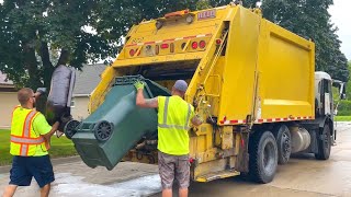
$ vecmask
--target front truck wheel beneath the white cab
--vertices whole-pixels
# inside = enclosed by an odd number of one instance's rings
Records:
[[[325,125],[321,138],[318,139],[318,153],[315,153],[317,160],[328,160],[330,157],[331,139],[329,125]]]

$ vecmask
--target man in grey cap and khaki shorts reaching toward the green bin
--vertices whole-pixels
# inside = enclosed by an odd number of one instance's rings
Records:
[[[172,96],[144,97],[144,82],[137,81],[136,105],[158,108],[158,166],[161,177],[162,196],[172,196],[174,178],[179,183],[179,196],[188,196],[190,182],[189,129],[190,124],[199,126],[202,120],[195,116],[194,107],[184,99],[188,84],[178,80]]]

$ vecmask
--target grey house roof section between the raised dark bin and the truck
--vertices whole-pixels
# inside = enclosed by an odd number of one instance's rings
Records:
[[[101,81],[101,73],[106,67],[102,63],[84,65],[81,71],[77,70],[73,96],[90,95]]]

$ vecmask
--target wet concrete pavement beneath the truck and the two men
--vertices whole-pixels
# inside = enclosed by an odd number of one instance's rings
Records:
[[[313,154],[297,155],[280,165],[272,183],[254,184],[239,177],[210,183],[192,183],[189,196],[262,196],[262,197],[351,197],[351,123],[338,123],[337,146],[328,161],[317,161]],[[61,196],[160,196],[157,166],[122,162],[113,171],[89,169],[79,158],[54,160],[56,181],[52,197]],[[9,167],[0,167],[0,193],[9,181]],[[31,187],[20,187],[19,197],[38,196]]]

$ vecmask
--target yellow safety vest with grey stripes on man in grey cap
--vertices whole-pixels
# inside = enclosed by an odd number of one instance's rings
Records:
[[[180,96],[158,96],[158,150],[172,155],[189,153],[193,112],[194,107]]]

